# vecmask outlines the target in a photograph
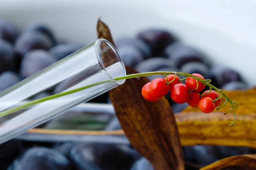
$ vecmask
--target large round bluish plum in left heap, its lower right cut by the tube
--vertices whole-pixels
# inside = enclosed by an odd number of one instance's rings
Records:
[[[20,65],[20,74],[27,78],[36,74],[38,71],[52,65],[57,60],[53,58],[48,51],[32,50],[29,51],[22,59]]]

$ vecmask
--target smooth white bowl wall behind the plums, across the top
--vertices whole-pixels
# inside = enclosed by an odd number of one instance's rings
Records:
[[[234,0],[0,0],[0,17],[20,27],[43,22],[57,37],[96,40],[99,17],[114,39],[163,27],[204,51],[214,63],[238,70],[256,85],[256,1]]]

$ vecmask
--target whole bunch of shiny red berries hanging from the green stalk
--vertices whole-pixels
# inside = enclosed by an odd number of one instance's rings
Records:
[[[201,74],[192,74],[195,77],[204,79]],[[204,113],[211,113],[220,104],[220,95],[213,90],[204,91],[205,84],[188,77],[185,84],[180,81],[180,77],[170,74],[167,78],[156,78],[145,84],[142,88],[143,97],[151,102],[158,101],[161,97],[171,91],[171,98],[176,103],[188,103],[191,107],[198,107]]]

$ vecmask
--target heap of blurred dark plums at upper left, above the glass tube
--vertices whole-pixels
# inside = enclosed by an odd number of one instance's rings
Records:
[[[85,45],[56,40],[52,30],[40,23],[19,30],[13,23],[0,19],[0,91],[41,71]],[[35,96],[41,98],[55,92]]]

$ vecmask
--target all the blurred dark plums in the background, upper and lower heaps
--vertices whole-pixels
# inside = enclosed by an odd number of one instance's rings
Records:
[[[146,29],[136,37],[121,37],[115,44],[125,65],[139,72],[198,73],[205,79],[212,79],[212,84],[218,88],[247,88],[237,71],[212,65],[200,51],[181,43],[173,34],[163,29]],[[44,24],[35,23],[19,30],[14,23],[0,19],[0,91],[84,46],[85,44],[77,42],[57,40],[52,30]],[[156,77],[148,78],[153,80]],[[59,85],[54,91],[38,94],[34,99],[58,93],[63,88],[65,84]],[[208,89],[204,89],[206,90]],[[166,97],[175,113],[188,106],[186,103],[173,102],[170,94]],[[110,101],[105,93],[90,102]],[[118,119],[113,117],[105,130],[120,128]],[[209,164],[227,156],[249,153],[247,148],[230,148],[194,146],[183,147],[183,150],[186,161],[198,164]],[[10,140],[0,145],[0,162],[3,170],[153,170],[151,164],[127,144],[53,144]]]

